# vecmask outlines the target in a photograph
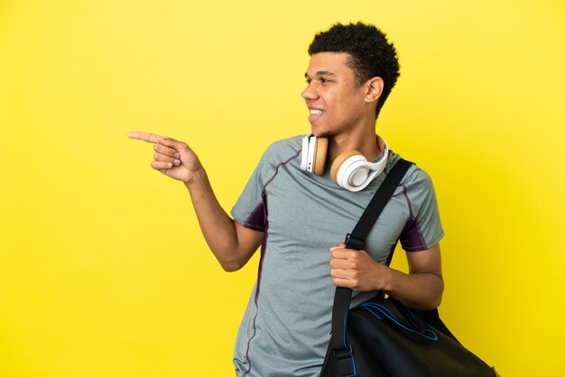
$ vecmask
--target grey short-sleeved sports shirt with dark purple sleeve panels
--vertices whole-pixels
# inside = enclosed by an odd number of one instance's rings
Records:
[[[329,342],[335,286],[329,248],[351,232],[387,172],[366,189],[336,185],[329,169],[317,176],[300,169],[301,139],[273,143],[255,168],[232,216],[264,232],[259,273],[236,339],[238,376],[318,376]],[[408,252],[431,248],[443,236],[431,179],[412,166],[366,239],[376,262],[391,261],[398,241]],[[351,307],[375,292],[353,292]]]

